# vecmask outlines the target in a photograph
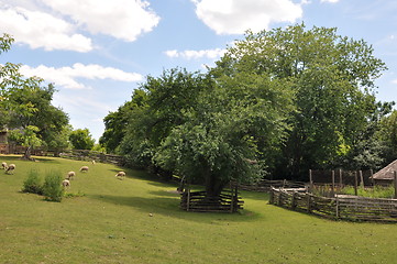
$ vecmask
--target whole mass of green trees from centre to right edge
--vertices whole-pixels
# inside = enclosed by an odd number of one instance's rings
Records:
[[[377,169],[397,157],[397,112],[376,100],[387,67],[373,52],[337,29],[247,32],[205,74],[148,76],[104,118],[100,143],[211,194],[309,168]]]

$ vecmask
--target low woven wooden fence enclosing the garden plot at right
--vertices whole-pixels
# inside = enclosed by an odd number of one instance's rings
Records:
[[[272,188],[269,204],[337,220],[397,222],[397,199],[345,195],[326,198]]]

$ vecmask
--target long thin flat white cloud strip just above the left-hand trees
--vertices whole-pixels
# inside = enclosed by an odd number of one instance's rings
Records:
[[[69,89],[89,89],[89,87],[79,82],[78,78],[85,79],[112,79],[119,81],[140,81],[143,79],[142,75],[136,73],[126,73],[121,69],[112,67],[102,67],[100,65],[90,64],[74,64],[73,67],[47,67],[40,65],[32,68],[23,65],[20,68],[21,74],[30,76],[38,76],[48,82],[55,82],[56,86],[62,86]]]

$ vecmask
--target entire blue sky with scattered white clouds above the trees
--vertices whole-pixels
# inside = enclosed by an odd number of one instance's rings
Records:
[[[147,75],[203,72],[247,29],[300,22],[372,44],[388,66],[377,98],[397,102],[395,0],[0,0],[0,34],[15,38],[0,64],[54,82],[54,106],[99,139]]]

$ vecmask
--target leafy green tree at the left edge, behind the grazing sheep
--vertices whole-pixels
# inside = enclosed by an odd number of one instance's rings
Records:
[[[4,34],[0,37],[0,54],[11,47],[13,40]],[[38,77],[25,78],[19,73],[20,65],[7,63],[0,66],[0,122],[13,129],[11,139],[26,146],[25,158],[32,147],[51,144],[51,134],[59,133],[68,124],[67,114],[52,106],[55,88],[43,87]]]

